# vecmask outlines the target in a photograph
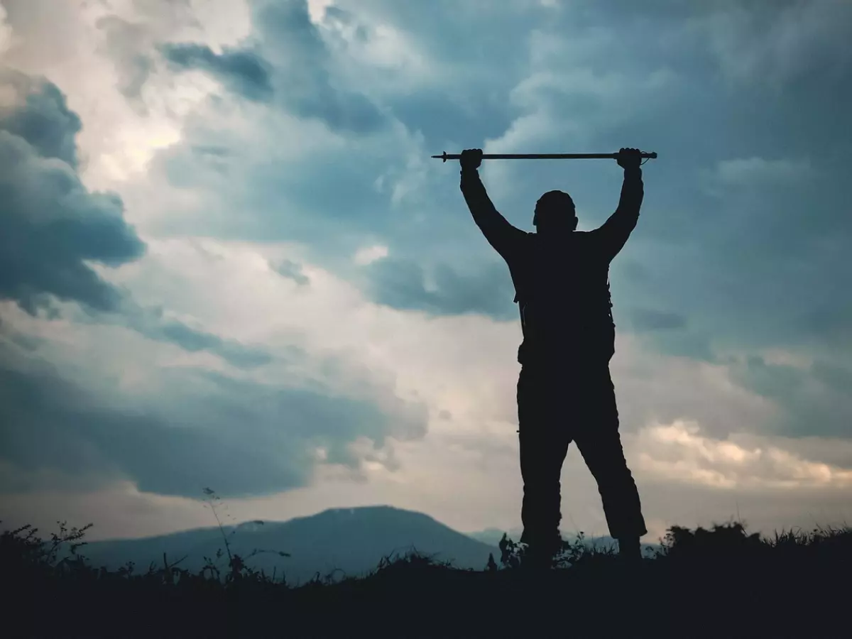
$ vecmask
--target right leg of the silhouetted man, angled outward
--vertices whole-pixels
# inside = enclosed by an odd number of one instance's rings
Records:
[[[641,556],[639,538],[648,533],[636,481],[625,460],[619,436],[619,412],[609,366],[590,371],[581,420],[574,439],[597,481],[609,533],[625,556]]]

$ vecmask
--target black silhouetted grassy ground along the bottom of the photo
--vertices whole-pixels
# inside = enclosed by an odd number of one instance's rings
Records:
[[[62,559],[85,528],[43,541],[29,527],[0,537],[5,636],[849,636],[852,529],[748,535],[740,524],[673,527],[636,567],[568,546],[538,573],[504,539],[484,570],[409,554],[371,575],[299,587],[244,558],[211,557],[190,573],[138,573]],[[174,558],[180,559],[179,557]],[[218,571],[218,574],[217,574]],[[14,629],[14,630],[12,630]]]

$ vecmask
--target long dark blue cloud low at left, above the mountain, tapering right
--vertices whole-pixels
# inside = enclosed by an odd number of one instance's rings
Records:
[[[210,423],[187,426],[98,406],[59,377],[3,367],[0,378],[2,456],[23,471],[19,481],[54,470],[101,481],[129,477],[143,491],[195,497],[214,479],[239,493],[298,486],[307,471],[287,460],[285,449],[264,449]]]

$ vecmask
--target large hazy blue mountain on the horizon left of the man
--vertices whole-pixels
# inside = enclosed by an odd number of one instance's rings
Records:
[[[246,564],[269,575],[274,568],[276,579],[284,571],[288,584],[303,584],[316,573],[324,576],[335,568],[349,576],[363,575],[375,569],[383,556],[401,556],[409,550],[476,570],[486,566],[489,553],[497,561],[500,557],[496,545],[458,533],[429,515],[390,506],[328,509],[289,521],[248,521],[224,527],[224,532],[231,552],[244,558],[254,549],[273,551],[250,557]],[[92,565],[109,569],[133,561],[136,573],[146,572],[151,562],[161,567],[163,553],[170,563],[186,556],[179,567],[197,573],[204,566],[204,556],[214,558],[220,548],[224,553],[222,532],[210,527],[158,537],[90,542],[79,552]],[[279,556],[279,551],[290,556]],[[216,565],[227,571],[227,557]]]

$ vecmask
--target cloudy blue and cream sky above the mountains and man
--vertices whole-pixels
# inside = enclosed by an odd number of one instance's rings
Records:
[[[520,526],[509,270],[458,164],[659,153],[610,277],[649,542],[852,521],[852,4],[0,0],[3,527]],[[532,231],[608,160],[484,161]],[[845,283],[845,284],[844,284]],[[606,534],[575,447],[562,531]]]

